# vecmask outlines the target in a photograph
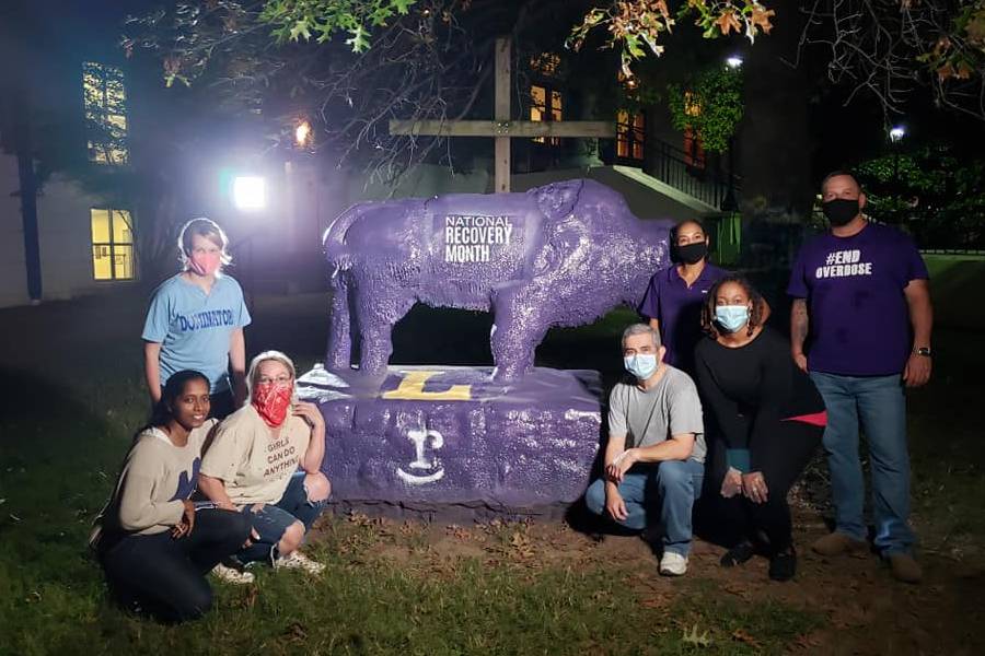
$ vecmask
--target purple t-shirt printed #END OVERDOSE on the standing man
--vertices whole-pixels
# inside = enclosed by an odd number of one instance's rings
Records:
[[[901,373],[913,348],[903,288],[928,278],[913,241],[878,223],[850,237],[827,233],[804,244],[787,293],[808,301],[808,368],[848,376]]]

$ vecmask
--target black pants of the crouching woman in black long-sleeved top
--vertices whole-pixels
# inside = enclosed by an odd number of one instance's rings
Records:
[[[792,544],[792,526],[787,493],[800,478],[821,444],[824,429],[799,421],[780,421],[765,432],[757,443],[750,445],[751,471],[761,471],[766,480],[767,501],[753,503],[739,494],[731,499],[721,496],[721,481],[728,471],[725,445],[715,445],[715,457],[709,487],[717,500],[718,520],[725,526],[727,541],[735,543],[750,539],[765,547],[767,553],[779,553]]]

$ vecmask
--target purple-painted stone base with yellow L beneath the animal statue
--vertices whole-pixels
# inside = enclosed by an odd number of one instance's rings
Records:
[[[393,366],[382,382],[316,367],[298,380],[326,424],[333,502],[426,517],[556,516],[584,492],[599,450],[600,376],[536,368]]]

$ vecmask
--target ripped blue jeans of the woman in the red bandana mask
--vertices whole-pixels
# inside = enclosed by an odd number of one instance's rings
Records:
[[[283,496],[275,504],[266,504],[257,512],[253,512],[253,505],[243,506],[243,514],[250,517],[254,530],[259,535],[250,547],[241,549],[236,553],[236,560],[241,563],[248,564],[256,561],[274,562],[278,557],[277,543],[283,537],[283,531],[294,522],[304,525],[304,532],[311,528],[314,520],[318,518],[327,499],[322,501],[310,501],[308,499],[308,490],[304,489],[303,471],[296,471],[291,476]]]

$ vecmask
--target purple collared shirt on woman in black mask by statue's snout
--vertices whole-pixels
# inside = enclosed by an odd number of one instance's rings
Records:
[[[726,276],[728,271],[706,262],[691,286],[677,273],[676,265],[660,269],[650,279],[639,314],[660,321],[660,339],[667,347],[664,362],[694,372],[694,348],[702,338],[702,304]]]

